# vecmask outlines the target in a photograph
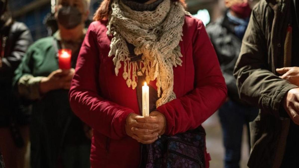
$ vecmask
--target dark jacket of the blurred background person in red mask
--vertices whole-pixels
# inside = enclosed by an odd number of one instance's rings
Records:
[[[223,17],[210,23],[207,32],[215,48],[221,71],[228,89],[228,97],[239,104],[245,104],[239,99],[236,79],[233,75],[236,61],[240,54],[242,40],[234,33],[234,23],[229,21],[225,14]]]

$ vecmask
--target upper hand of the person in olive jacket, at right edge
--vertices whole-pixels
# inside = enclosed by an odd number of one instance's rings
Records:
[[[276,71],[281,74],[281,76],[279,76],[281,79],[299,86],[299,67],[277,68]]]

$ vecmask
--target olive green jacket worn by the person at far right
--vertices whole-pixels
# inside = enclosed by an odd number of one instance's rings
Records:
[[[234,76],[239,96],[260,108],[250,123],[250,168],[280,167],[289,132],[289,118],[283,118],[282,101],[296,85],[280,79],[276,68],[291,65],[292,0],[261,0],[253,9],[243,38]]]

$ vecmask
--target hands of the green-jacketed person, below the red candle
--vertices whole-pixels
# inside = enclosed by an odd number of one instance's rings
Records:
[[[69,89],[69,85],[74,74],[74,69],[53,71],[48,77],[43,77],[40,81],[40,92],[45,94],[51,90]]]

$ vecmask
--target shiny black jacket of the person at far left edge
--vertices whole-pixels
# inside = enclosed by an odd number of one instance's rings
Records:
[[[7,37],[3,65],[0,68],[0,127],[8,126],[12,115],[20,123],[27,120],[21,113],[22,108],[12,93],[12,78],[14,71],[18,67],[25,55],[29,45],[33,42],[29,29],[20,22],[13,22],[1,28],[1,38]],[[1,39],[1,42],[3,40]],[[3,42],[2,42],[3,43]],[[2,44],[3,45],[3,44]],[[22,117],[23,116],[23,117]]]

